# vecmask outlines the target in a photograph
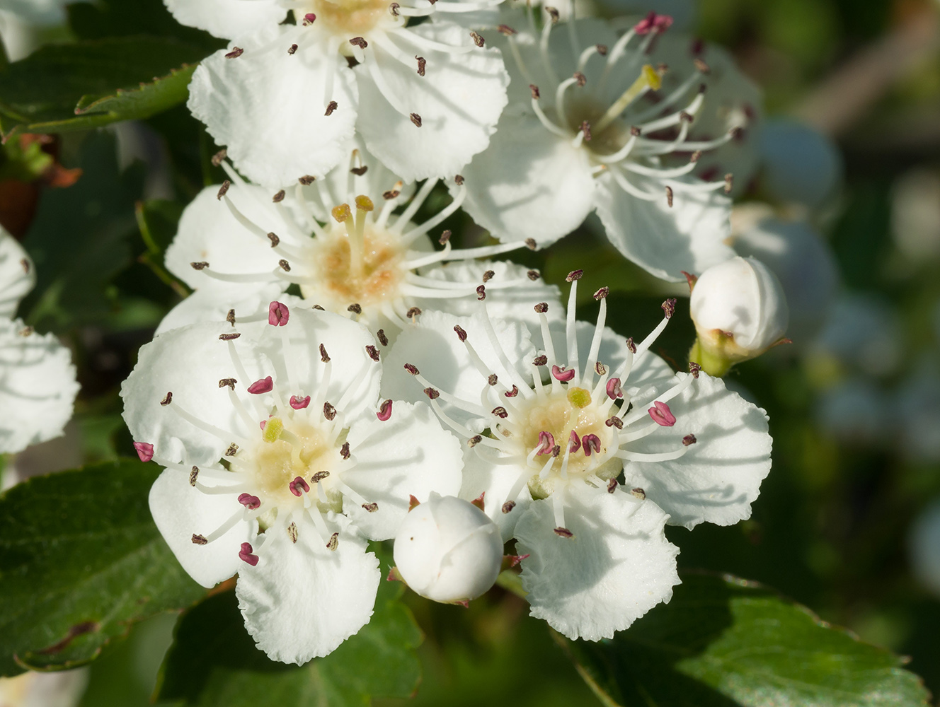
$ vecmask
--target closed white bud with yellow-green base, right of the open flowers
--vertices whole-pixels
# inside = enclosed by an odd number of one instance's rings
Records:
[[[779,342],[789,318],[783,287],[754,258],[734,257],[705,270],[690,309],[698,333],[692,360],[717,376]]]

